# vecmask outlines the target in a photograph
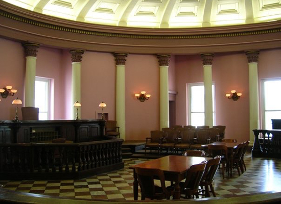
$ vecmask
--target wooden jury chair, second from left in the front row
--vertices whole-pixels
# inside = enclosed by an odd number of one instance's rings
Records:
[[[167,154],[168,154],[168,150],[172,149],[172,153],[173,153],[175,149],[175,143],[179,137],[180,137],[179,131],[166,131],[166,137],[162,138],[160,142],[160,151],[164,148],[167,150]]]

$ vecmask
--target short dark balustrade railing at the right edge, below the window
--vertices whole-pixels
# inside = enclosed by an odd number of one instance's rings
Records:
[[[253,130],[253,157],[281,158],[281,130]]]

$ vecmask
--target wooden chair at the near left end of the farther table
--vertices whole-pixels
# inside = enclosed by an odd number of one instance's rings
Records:
[[[222,156],[220,164],[222,164],[222,177],[224,179],[224,165],[226,165],[226,170],[229,174],[229,162],[228,159],[228,150],[225,145],[208,145],[209,155],[210,157],[216,157],[217,155]]]

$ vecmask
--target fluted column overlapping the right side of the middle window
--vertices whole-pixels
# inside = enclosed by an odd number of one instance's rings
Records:
[[[201,54],[204,69],[204,105],[205,105],[205,125],[213,127],[213,92],[212,92],[212,64],[213,53]]]

